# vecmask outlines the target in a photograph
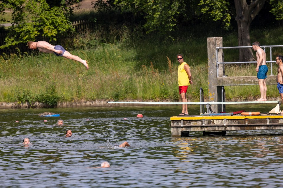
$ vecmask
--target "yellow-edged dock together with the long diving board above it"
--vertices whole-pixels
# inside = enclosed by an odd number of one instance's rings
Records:
[[[164,105],[206,105],[207,111],[211,105],[218,104],[267,104],[277,103],[269,113],[260,115],[240,115],[234,113],[205,113],[200,115],[173,116],[171,120],[171,133],[175,137],[189,136],[190,131],[203,131],[203,135],[222,134],[232,130],[269,130],[283,129],[283,115],[281,115],[280,101],[242,101],[242,102],[108,102],[125,104],[164,104]],[[242,110],[243,111],[243,110]]]

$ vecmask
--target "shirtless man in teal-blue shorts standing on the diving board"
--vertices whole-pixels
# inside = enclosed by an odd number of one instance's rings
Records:
[[[256,72],[259,79],[260,98],[256,101],[266,101],[266,74],[268,68],[266,66],[266,54],[259,46],[259,42],[253,43],[253,49],[256,51]]]

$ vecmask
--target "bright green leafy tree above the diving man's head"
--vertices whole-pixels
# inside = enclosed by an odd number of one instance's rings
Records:
[[[69,16],[73,10],[71,5],[78,1],[58,1],[60,6],[52,7],[48,2],[45,0],[1,1],[0,11],[1,7],[12,11],[12,26],[8,28],[5,44],[1,48],[35,41],[37,38],[57,41],[58,37],[74,31]]]

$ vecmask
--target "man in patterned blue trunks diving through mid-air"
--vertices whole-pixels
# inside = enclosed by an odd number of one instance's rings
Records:
[[[48,42],[45,42],[45,41],[38,41],[38,42],[29,41],[27,43],[27,46],[29,47],[29,49],[32,49],[32,50],[38,49],[39,51],[45,52],[45,53],[55,53],[56,56],[62,56],[62,57],[67,58],[67,59],[72,59],[72,60],[78,61],[80,63],[83,63],[85,68],[88,69],[87,61],[82,60],[78,56],[74,56],[74,55],[70,54],[62,46],[59,46],[59,45],[53,46],[53,45],[51,45],[51,44],[49,44]]]

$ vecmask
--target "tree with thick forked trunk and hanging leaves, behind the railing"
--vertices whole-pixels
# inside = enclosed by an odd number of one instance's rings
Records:
[[[250,25],[254,20],[259,11],[264,6],[265,2],[273,7],[270,12],[272,12],[277,20],[283,19],[282,14],[282,0],[234,0],[234,5],[236,9],[235,20],[238,27],[238,46],[251,46],[250,39]],[[226,27],[230,26],[231,9],[233,5],[229,3],[228,0],[200,0],[201,11],[203,14],[209,15],[213,20],[222,20],[226,23]],[[221,7],[221,8],[220,8]],[[239,61],[253,61],[254,56],[251,48],[239,49]]]

